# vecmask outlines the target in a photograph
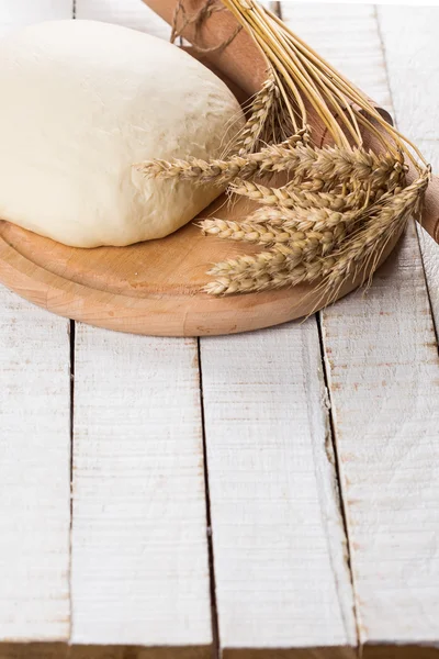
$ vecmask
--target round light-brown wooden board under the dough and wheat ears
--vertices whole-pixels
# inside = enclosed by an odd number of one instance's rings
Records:
[[[224,201],[203,216],[216,211],[233,219],[249,211],[247,204]],[[0,281],[56,314],[144,335],[233,334],[315,311],[319,294],[308,284],[219,299],[201,292],[211,264],[249,249],[204,237],[194,223],[160,241],[77,249],[1,221]],[[349,282],[340,295],[357,284]]]

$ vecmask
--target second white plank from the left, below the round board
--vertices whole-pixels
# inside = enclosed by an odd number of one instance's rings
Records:
[[[72,641],[212,640],[194,339],[78,324]]]

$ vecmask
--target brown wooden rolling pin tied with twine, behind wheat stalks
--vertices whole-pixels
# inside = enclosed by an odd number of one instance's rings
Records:
[[[177,0],[144,0],[157,14],[172,24]],[[205,0],[184,0],[188,15],[200,11]],[[201,43],[203,48],[215,48],[224,43],[237,29],[235,16],[228,11],[214,12],[199,27],[189,25],[183,36]],[[196,38],[195,38],[196,36]],[[249,96],[256,93],[267,77],[267,64],[251,36],[241,30],[224,51],[211,51],[203,55],[214,67],[238,85]],[[412,178],[415,172],[412,171]],[[439,243],[439,177],[435,176],[427,191],[421,219],[423,227]]]

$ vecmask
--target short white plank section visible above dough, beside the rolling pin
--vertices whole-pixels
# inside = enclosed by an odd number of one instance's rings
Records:
[[[169,38],[170,27],[140,0],[76,0],[77,19],[116,23]]]

